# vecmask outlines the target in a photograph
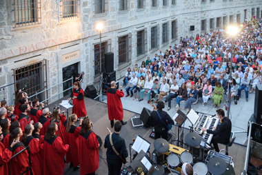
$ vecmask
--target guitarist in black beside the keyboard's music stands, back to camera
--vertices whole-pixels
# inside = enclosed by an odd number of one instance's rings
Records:
[[[168,141],[168,127],[174,125],[174,121],[167,112],[163,111],[163,108],[165,108],[165,104],[163,101],[159,101],[157,108],[154,107],[154,111],[150,116],[154,121],[154,139],[164,138]]]

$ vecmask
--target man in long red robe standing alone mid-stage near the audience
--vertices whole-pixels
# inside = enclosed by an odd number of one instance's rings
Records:
[[[111,127],[114,127],[114,119],[125,125],[126,121],[123,121],[123,105],[121,102],[121,97],[124,96],[122,86],[120,86],[120,90],[117,90],[116,82],[112,81],[106,95],[108,96],[108,117]]]

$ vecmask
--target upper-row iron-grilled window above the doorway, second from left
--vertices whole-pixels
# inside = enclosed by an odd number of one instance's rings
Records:
[[[79,17],[79,0],[61,0],[61,19]]]

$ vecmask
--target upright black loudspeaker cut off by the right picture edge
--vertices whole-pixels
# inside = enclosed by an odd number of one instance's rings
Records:
[[[256,123],[262,124],[262,85],[256,85],[256,92],[254,96],[254,120]]]

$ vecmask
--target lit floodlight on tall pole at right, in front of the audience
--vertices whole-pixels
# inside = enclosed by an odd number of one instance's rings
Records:
[[[232,83],[232,58],[233,58],[233,49],[234,49],[234,38],[237,36],[237,34],[239,33],[239,27],[236,25],[229,25],[228,28],[226,29],[226,32],[228,34],[228,36],[231,39],[231,58],[230,58],[230,76],[228,78],[228,118],[230,116],[230,108],[231,108],[231,89],[230,89],[230,83]]]

